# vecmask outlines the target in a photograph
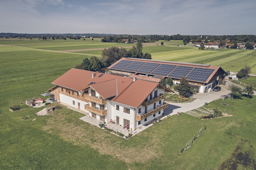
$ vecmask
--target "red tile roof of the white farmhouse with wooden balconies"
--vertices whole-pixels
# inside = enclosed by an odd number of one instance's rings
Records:
[[[95,77],[92,78],[92,73]],[[99,77],[103,74],[101,77]],[[90,83],[92,83],[90,85]],[[116,84],[117,83],[117,84]],[[159,85],[156,82],[136,80],[111,74],[96,73],[87,70],[70,69],[52,82],[54,85],[66,87],[76,91],[92,87],[103,98],[138,108],[148,95]],[[117,87],[116,87],[117,86]]]

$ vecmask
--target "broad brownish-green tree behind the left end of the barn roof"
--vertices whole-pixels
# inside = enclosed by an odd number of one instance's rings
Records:
[[[119,48],[116,46],[110,47],[108,49],[102,50],[102,62],[105,62],[107,66],[112,65],[114,62],[120,58],[127,58],[128,51],[125,48]]]

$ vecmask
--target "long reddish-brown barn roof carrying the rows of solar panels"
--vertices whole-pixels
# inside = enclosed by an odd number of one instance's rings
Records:
[[[223,73],[225,73],[225,71],[220,66],[184,62],[157,61],[140,58],[121,58],[109,66],[108,69],[131,72],[134,74],[142,73],[144,75],[151,75],[152,78],[144,78],[144,80],[148,81],[155,81],[154,77],[158,76],[158,79],[161,77],[171,77],[176,79],[185,77],[189,81],[203,83],[208,83],[218,70],[221,70]],[[131,75],[130,77],[134,77],[134,75]]]

